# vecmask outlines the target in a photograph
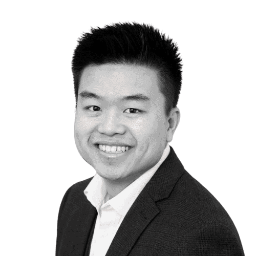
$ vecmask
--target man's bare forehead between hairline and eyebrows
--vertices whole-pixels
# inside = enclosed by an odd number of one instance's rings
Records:
[[[156,71],[141,66],[107,64],[87,67],[82,72],[78,94],[84,90],[110,99],[135,93],[150,99],[162,97]]]

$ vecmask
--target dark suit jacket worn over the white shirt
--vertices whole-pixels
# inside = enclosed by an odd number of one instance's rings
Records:
[[[72,185],[62,198],[56,256],[84,255],[90,246],[97,211],[83,190],[91,180]],[[186,172],[170,147],[168,157],[127,212],[106,255],[245,254],[227,211]]]

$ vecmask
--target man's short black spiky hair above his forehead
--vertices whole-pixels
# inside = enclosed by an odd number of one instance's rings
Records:
[[[153,69],[165,98],[165,115],[178,104],[183,62],[175,41],[151,24],[118,22],[82,32],[73,51],[75,108],[84,68],[104,64],[135,65]]]

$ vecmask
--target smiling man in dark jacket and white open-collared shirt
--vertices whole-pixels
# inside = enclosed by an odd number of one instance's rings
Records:
[[[226,210],[168,144],[181,116],[175,42],[145,24],[93,29],[72,73],[75,144],[96,175],[66,191],[56,255],[244,255]]]

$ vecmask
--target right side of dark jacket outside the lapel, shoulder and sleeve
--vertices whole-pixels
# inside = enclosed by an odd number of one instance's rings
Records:
[[[244,255],[239,233],[225,208],[186,171],[169,196],[156,205],[159,214],[141,235],[142,247],[152,244],[166,255],[169,251],[177,255]]]

